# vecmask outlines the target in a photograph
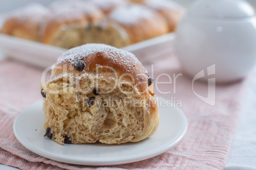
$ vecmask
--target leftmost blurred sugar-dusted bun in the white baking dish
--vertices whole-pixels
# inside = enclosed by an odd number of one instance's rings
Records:
[[[48,8],[40,4],[25,6],[7,16],[1,33],[32,41],[40,41],[41,21],[45,20],[48,15]]]

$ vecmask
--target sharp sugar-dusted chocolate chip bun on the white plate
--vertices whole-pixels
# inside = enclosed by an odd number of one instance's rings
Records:
[[[136,56],[85,44],[59,57],[43,85],[46,134],[57,143],[144,140],[159,125],[153,79]]]

